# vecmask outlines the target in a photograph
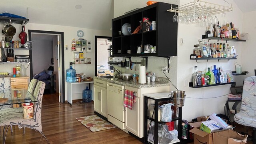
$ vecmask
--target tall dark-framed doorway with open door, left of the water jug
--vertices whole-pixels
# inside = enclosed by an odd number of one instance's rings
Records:
[[[59,102],[65,102],[64,79],[64,33],[42,30],[28,30],[29,41],[34,41],[30,50],[30,79],[35,74],[50,72],[52,78],[46,84],[54,87]],[[52,91],[52,90],[51,90]]]

